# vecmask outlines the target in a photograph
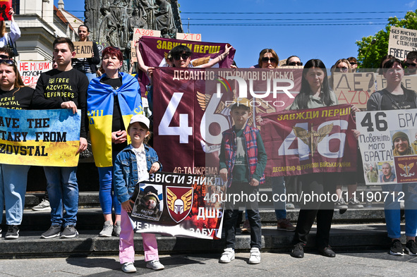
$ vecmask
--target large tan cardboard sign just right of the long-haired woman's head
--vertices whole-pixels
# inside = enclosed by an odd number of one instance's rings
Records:
[[[333,88],[339,104],[366,108],[370,94],[375,92],[374,73],[334,73]]]

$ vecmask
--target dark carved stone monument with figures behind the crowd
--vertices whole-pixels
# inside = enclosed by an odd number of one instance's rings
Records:
[[[183,32],[177,0],[85,0],[85,25],[95,42],[130,49],[135,28]]]

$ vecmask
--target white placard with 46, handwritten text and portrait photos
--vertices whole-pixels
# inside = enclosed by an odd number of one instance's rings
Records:
[[[356,113],[367,185],[417,182],[417,109]]]

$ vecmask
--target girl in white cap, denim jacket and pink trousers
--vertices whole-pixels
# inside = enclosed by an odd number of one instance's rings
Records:
[[[133,265],[135,249],[133,242],[133,226],[128,217],[134,202],[131,200],[135,185],[149,179],[149,174],[161,169],[157,152],[145,142],[149,139],[149,119],[142,114],[132,116],[128,126],[131,144],[123,149],[114,163],[114,193],[121,203],[121,232],[119,242],[119,259],[121,270],[126,273],[136,272]],[[145,251],[146,267],[160,270],[164,266],[159,262],[158,246],[155,234],[142,233],[143,250]]]

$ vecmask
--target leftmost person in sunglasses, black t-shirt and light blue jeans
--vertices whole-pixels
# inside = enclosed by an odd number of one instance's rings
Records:
[[[16,62],[0,60],[0,104],[6,109],[30,109],[34,90],[25,87]],[[13,100],[12,100],[13,99]],[[19,238],[30,166],[0,164],[0,216],[6,206],[6,240]],[[1,223],[0,218],[0,223]],[[0,228],[1,237],[1,228]]]

